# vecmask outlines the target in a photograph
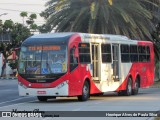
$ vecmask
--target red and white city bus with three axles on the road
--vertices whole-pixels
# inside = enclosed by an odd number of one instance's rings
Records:
[[[113,91],[136,95],[154,83],[154,48],[149,41],[88,33],[33,35],[21,45],[18,65],[20,96],[39,101]]]

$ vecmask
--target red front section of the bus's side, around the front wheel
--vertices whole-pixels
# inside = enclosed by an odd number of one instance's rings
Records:
[[[79,58],[78,44],[81,42],[81,37],[78,34],[73,35],[69,41],[69,51],[76,47],[76,56]],[[70,52],[68,51],[69,55]],[[69,57],[70,59],[70,57]],[[68,60],[70,61],[70,60]],[[68,63],[70,65],[70,63]],[[70,69],[70,68],[69,68]],[[100,93],[100,90],[95,86],[91,80],[91,73],[86,64],[80,64],[78,60],[78,67],[69,72],[69,96],[82,95],[82,88],[85,80],[90,82],[90,93]]]

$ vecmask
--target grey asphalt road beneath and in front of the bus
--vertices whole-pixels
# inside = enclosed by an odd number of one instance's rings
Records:
[[[36,97],[20,97],[17,80],[0,80],[0,111],[13,109],[18,111],[35,109],[40,111],[159,111],[160,89],[140,89],[138,95],[129,97],[117,96],[116,93],[110,92],[103,96],[91,96],[86,102],[79,102],[76,97],[58,97],[47,102],[39,102]],[[152,118],[141,117],[140,119]]]

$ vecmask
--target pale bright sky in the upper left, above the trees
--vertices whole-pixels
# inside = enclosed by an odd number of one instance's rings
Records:
[[[0,19],[5,21],[12,19],[14,22],[23,23],[20,13],[28,12],[37,14],[35,23],[42,25],[45,20],[39,16],[39,13],[45,9],[45,3],[48,0],[0,0]],[[6,15],[2,15],[6,13]]]

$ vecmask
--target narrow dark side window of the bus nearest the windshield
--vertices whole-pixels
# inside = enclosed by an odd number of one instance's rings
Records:
[[[78,66],[78,57],[75,56],[75,47],[70,49],[70,72]]]

